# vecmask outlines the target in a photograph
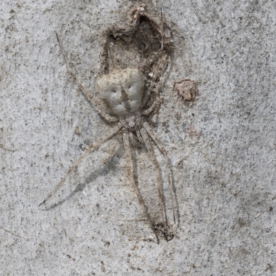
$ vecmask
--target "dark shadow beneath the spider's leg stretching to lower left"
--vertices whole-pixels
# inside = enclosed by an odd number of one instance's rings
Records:
[[[117,148],[116,152],[111,157],[108,158],[108,161],[102,168],[99,168],[94,172],[91,172],[90,175],[86,178],[86,180],[83,181],[83,183],[77,184],[76,188],[72,190],[72,192],[68,196],[59,200],[57,203],[52,204],[50,207],[44,208],[43,211],[48,211],[56,208],[57,206],[61,206],[65,201],[68,201],[69,199],[77,195],[77,193],[82,192],[84,188],[88,184],[90,184],[90,182],[95,181],[98,177],[101,177],[102,175],[105,175],[110,172],[115,172],[116,165],[119,163],[119,160],[121,159],[121,157],[123,157],[123,155],[124,155],[124,147],[122,144],[120,144],[119,148]]]

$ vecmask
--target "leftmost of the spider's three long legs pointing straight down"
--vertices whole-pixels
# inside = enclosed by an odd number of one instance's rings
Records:
[[[130,177],[130,182],[132,184],[132,187],[135,190],[135,193],[136,193],[136,195],[139,199],[139,202],[140,202],[141,206],[143,206],[146,218],[148,219],[148,222],[150,223],[150,227],[152,228],[153,233],[155,233],[155,236],[157,237],[157,243],[159,244],[159,238],[158,238],[158,235],[156,233],[155,227],[152,224],[152,220],[150,218],[150,215],[148,214],[148,210],[146,208],[146,205],[144,204],[144,201],[141,197],[139,189],[138,189],[137,185],[135,184],[135,180],[134,180],[134,176],[133,176],[132,160],[131,160],[131,155],[130,155],[130,143],[129,143],[129,139],[128,139],[128,131],[127,130],[125,130],[123,132],[123,139],[124,139],[124,147],[125,147],[125,150],[126,150],[126,162],[127,162],[128,176]]]

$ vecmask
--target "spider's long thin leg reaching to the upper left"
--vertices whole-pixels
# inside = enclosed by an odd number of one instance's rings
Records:
[[[57,32],[56,32],[56,35],[57,35]],[[61,42],[59,41],[58,35],[57,35],[57,42],[59,42],[59,47],[61,48],[61,54],[63,56],[64,62],[66,63],[66,68],[67,68],[68,72],[70,73],[72,78],[76,81],[77,85],[81,89],[81,92],[83,92],[83,95],[86,96],[86,99],[88,99],[88,101],[90,101],[90,103],[92,103],[95,106],[95,108],[97,109],[97,111],[99,112],[101,117],[106,119],[106,121],[118,121],[117,118],[111,117],[107,113],[103,112],[103,110],[101,110],[101,107],[102,107],[101,102],[98,99],[96,99],[95,97],[93,97],[92,95],[90,95],[90,93],[86,90],[86,88],[83,87],[83,85],[79,82],[79,80],[77,79],[75,74],[72,72],[72,69],[70,68],[68,60],[66,58],[65,52],[61,46]]]

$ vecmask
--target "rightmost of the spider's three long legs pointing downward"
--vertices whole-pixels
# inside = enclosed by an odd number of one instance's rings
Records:
[[[155,141],[155,144],[157,145],[157,147],[159,148],[159,150],[162,152],[162,154],[165,157],[165,161],[166,161],[166,170],[167,170],[167,175],[168,175],[168,185],[170,187],[170,200],[172,201],[172,213],[173,213],[173,219],[175,221],[175,205],[174,205],[174,201],[173,201],[173,193],[172,193],[172,177],[170,175],[170,165],[168,162],[168,153],[165,150],[164,146],[162,146],[161,142],[159,141],[159,139],[157,139],[157,137],[155,136],[155,134],[152,132],[152,130],[150,129],[150,126],[148,125],[148,123],[144,122],[143,123],[144,128],[146,129],[146,132],[148,132],[148,135],[150,135],[151,139],[153,141]]]

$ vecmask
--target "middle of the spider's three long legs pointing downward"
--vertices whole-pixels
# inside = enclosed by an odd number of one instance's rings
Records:
[[[164,215],[164,200],[163,200],[163,195],[162,195],[162,190],[161,190],[161,176],[160,176],[158,162],[155,157],[155,152],[153,152],[152,146],[150,145],[150,140],[148,139],[146,130],[144,130],[144,128],[141,128],[140,132],[143,137],[144,143],[146,144],[146,148],[148,150],[148,154],[150,155],[150,159],[151,159],[153,165],[155,166],[155,174],[156,174],[156,178],[157,178],[157,190],[158,190],[159,201],[160,201],[160,205],[161,205],[163,224],[165,227],[167,225],[167,223],[166,223],[167,221],[165,221],[166,215]]]

